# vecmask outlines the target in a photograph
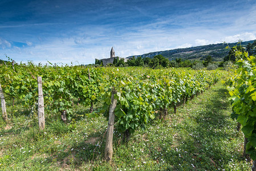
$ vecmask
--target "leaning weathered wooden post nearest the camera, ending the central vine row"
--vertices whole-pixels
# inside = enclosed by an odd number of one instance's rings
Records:
[[[114,97],[115,93],[115,87],[113,87],[111,95],[111,104],[109,106],[108,131],[104,155],[105,160],[107,160],[108,162],[111,162],[113,154],[113,129],[115,124],[115,108],[117,103],[117,100]]]

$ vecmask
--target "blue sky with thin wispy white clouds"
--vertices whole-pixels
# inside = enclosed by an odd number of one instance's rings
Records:
[[[0,59],[89,64],[256,39],[256,1],[1,0]]]

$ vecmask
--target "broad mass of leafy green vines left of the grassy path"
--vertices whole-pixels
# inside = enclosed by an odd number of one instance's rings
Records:
[[[109,118],[109,106],[116,100],[115,128],[124,137],[136,129],[146,129],[156,116],[176,112],[177,104],[202,93],[223,76],[222,71],[194,71],[189,69],[86,68],[83,66],[42,66],[32,63],[7,63],[0,67],[0,83],[5,99],[18,99],[25,107],[38,102],[37,76],[42,76],[44,108],[47,115],[73,117],[74,101],[90,107],[92,117]],[[95,104],[101,107],[96,111]],[[51,114],[50,114],[51,113]],[[109,124],[113,125],[113,124]]]

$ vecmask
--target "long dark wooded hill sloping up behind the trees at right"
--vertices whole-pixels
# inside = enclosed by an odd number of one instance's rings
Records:
[[[250,40],[247,42],[242,42],[242,46],[245,47],[248,43],[253,43],[254,40]],[[238,43],[238,42],[237,42]],[[237,45],[237,43],[229,43],[230,47]],[[196,46],[196,47],[188,47],[188,48],[177,48],[174,50],[166,50],[166,51],[157,51],[157,52],[149,52],[148,54],[143,55],[134,55],[135,58],[141,56],[142,58],[153,58],[156,55],[162,55],[169,60],[173,60],[176,58],[181,59],[189,59],[189,60],[205,60],[207,55],[211,55],[213,60],[222,61],[224,56],[226,56],[229,52],[229,49],[225,47],[227,44],[218,43],[218,44],[209,44],[204,46]],[[132,58],[132,56],[128,56],[127,58]]]

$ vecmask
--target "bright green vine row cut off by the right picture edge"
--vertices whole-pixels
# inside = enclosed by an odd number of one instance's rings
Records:
[[[227,84],[233,107],[231,117],[242,125],[246,153],[254,160],[252,170],[256,170],[256,59],[241,48],[234,49],[236,68]]]

